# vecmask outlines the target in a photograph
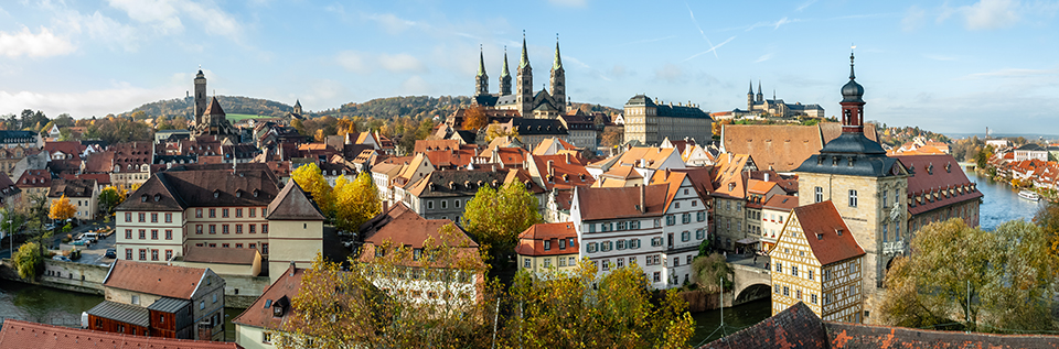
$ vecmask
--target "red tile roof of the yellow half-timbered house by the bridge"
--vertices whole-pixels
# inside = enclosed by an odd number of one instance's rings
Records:
[[[795,207],[793,212],[821,265],[864,255],[864,249],[853,238],[831,200]],[[839,231],[842,235],[838,235]],[[787,230],[783,233],[787,233]]]

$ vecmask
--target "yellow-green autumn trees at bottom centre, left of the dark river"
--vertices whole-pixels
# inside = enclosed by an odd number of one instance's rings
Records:
[[[503,331],[510,348],[684,348],[694,331],[687,304],[676,291],[651,301],[637,265],[603,276],[581,260],[569,271],[539,277],[522,270],[510,294],[512,318]]]

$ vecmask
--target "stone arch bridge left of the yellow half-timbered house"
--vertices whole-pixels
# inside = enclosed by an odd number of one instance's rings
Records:
[[[732,269],[732,292],[725,293],[726,307],[772,296],[772,275],[766,265],[772,265],[768,257],[729,254],[728,265]]]

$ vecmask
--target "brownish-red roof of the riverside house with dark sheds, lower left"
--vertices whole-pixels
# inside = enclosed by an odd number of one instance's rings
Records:
[[[191,299],[208,269],[115,260],[103,282],[105,287]]]

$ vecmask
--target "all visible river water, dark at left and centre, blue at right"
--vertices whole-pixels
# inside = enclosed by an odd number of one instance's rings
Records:
[[[967,172],[967,177],[977,183],[984,195],[980,210],[980,223],[983,229],[993,230],[1012,219],[1033,219],[1038,205],[1021,199],[1005,183],[996,183],[988,177]],[[81,324],[81,312],[88,310],[103,302],[101,296],[52,290],[18,282],[0,281],[0,319],[15,318],[29,321],[76,327]],[[231,320],[243,309],[225,309],[225,336],[235,339],[235,326]],[[726,308],[725,328],[720,327],[720,310],[693,314],[695,335],[691,345],[708,342],[725,334],[731,335],[738,329],[752,326],[771,315],[769,299],[755,301],[736,307]],[[715,332],[716,331],[716,332]],[[713,334],[713,335],[712,335]]]

